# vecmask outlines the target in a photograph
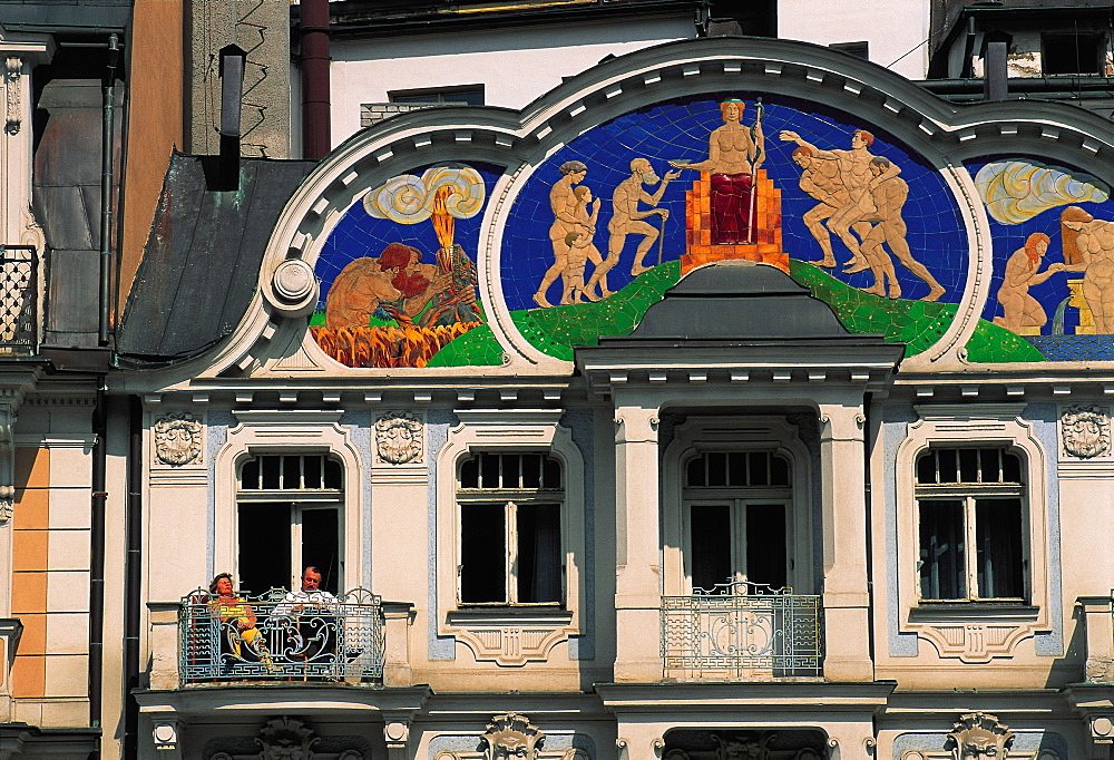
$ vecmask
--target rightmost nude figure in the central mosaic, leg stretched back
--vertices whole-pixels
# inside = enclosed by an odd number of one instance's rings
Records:
[[[892,164],[889,158],[876,156],[870,159],[869,168],[871,176],[879,182],[878,184],[872,182],[870,186],[874,212],[862,218],[864,222],[873,222],[874,226],[863,237],[861,252],[874,274],[874,284],[863,291],[874,295],[888,295],[891,299],[901,296],[901,285],[898,284],[893,272],[893,261],[882,249],[882,243],[886,243],[898,261],[928,285],[928,295],[921,301],[939,301],[945,293],[944,286],[924,264],[913,259],[909,243],[906,242],[907,228],[905,220],[901,218],[901,208],[909,197],[908,183],[890,173]],[[889,288],[886,286],[887,280]]]

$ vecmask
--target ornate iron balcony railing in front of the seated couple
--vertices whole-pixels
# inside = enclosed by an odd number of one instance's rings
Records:
[[[260,596],[197,590],[178,615],[184,684],[297,681],[378,684],[383,676],[382,601],[356,588],[339,596]]]

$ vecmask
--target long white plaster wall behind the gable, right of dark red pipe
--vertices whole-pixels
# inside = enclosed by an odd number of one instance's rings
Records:
[[[694,19],[537,26],[465,33],[333,42],[330,69],[333,146],[360,129],[360,104],[387,103],[399,89],[478,85],[486,105],[522,108],[599,62],[696,36]]]

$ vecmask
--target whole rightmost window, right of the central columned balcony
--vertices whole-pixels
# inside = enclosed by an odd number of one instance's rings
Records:
[[[1025,598],[1024,484],[1006,449],[929,449],[917,461],[920,597]]]

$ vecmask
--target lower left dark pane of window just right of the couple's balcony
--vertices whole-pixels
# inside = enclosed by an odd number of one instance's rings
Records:
[[[507,598],[506,508],[469,504],[460,508],[460,601]]]

